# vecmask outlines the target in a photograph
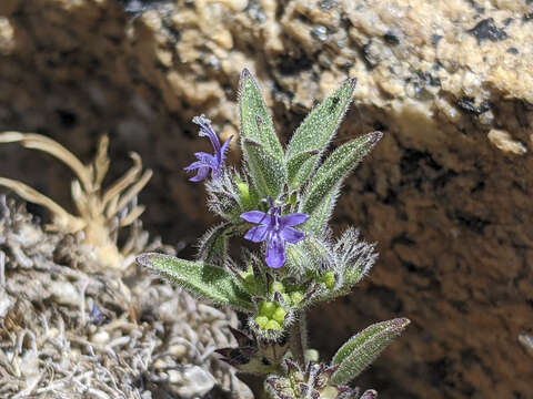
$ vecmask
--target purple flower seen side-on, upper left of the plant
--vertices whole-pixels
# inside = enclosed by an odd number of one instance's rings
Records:
[[[211,127],[211,121],[205,117],[205,115],[194,116],[192,122],[200,126],[201,136],[207,136],[211,141],[211,145],[213,146],[214,154],[208,154],[204,152],[194,153],[198,161],[193,162],[189,166],[185,167],[185,171],[195,171],[198,173],[195,176],[189,178],[190,182],[201,182],[208,177],[209,170],[211,170],[211,177],[218,178],[220,173],[222,172],[222,164],[224,163],[224,154],[228,150],[228,145],[230,145],[231,136],[225,141],[225,143],[221,146],[220,140],[217,133],[214,133],[213,127]]]

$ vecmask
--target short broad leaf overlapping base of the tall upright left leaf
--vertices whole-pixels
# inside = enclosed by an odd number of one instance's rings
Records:
[[[274,157],[264,146],[252,140],[242,141],[247,152],[247,165],[261,197],[276,198],[286,183],[283,162]]]

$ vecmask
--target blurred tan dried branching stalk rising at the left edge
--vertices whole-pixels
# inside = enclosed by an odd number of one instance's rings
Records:
[[[48,227],[51,231],[66,234],[82,232],[83,242],[95,249],[102,265],[114,268],[131,265],[131,260],[124,262],[131,254],[131,248],[128,245],[121,249],[117,247],[118,232],[121,227],[133,224],[143,213],[144,206],[137,204],[137,195],[152,175],[150,170],[142,172],[141,157],[137,153],[131,153],[133,166],[103,190],[102,181],[110,165],[107,136],[101,137],[97,155],[88,165],[61,144],[40,134],[4,132],[0,134],[0,143],[20,143],[27,149],[46,152],[69,166],[77,176],[71,185],[71,194],[78,215],[68,213],[22,182],[0,177],[0,185],[50,211],[52,223]]]

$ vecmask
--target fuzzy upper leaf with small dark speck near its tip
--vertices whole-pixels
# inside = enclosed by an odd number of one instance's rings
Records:
[[[289,183],[298,188],[314,171],[321,154],[335,135],[339,124],[348,111],[352,100],[356,80],[346,80],[332,95],[312,110],[302,124],[296,129],[286,147],[289,168],[296,170],[289,173]],[[302,154],[313,151],[314,154],[304,162],[299,162]]]

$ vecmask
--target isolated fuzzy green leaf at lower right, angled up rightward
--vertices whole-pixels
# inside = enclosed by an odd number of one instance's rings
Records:
[[[350,338],[335,354],[332,366],[339,369],[331,377],[332,383],[348,383],[361,374],[383,349],[398,337],[411,321],[396,318],[376,323]]]

